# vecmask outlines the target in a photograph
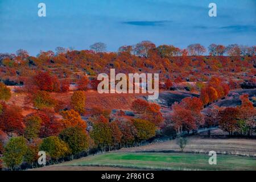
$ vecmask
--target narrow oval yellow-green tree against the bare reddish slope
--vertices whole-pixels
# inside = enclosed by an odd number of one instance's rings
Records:
[[[72,108],[79,112],[80,114],[84,114],[85,112],[85,94],[82,91],[76,91],[73,93],[71,97],[71,106]]]

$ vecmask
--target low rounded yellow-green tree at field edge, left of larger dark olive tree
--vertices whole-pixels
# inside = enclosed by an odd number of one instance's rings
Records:
[[[44,138],[39,148],[52,159],[59,159],[69,154],[68,144],[56,136]]]

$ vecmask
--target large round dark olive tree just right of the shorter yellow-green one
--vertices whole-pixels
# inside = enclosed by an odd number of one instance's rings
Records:
[[[89,149],[88,135],[81,127],[69,127],[59,134],[59,138],[68,144],[72,154]]]

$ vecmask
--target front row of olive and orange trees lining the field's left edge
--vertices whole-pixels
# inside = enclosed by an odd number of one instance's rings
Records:
[[[59,131],[49,136],[42,135],[40,138],[44,127],[40,115],[32,114],[24,118],[26,126],[23,134],[19,134],[20,137],[4,140],[2,138],[6,134],[0,130],[0,152],[3,154],[6,167],[14,169],[21,163],[37,166],[39,151],[46,152],[48,162],[49,159],[55,162],[67,156],[73,159],[74,155],[82,152],[88,154],[93,148],[104,151],[130,146],[154,137],[156,130],[154,123],[143,119],[108,122],[107,119],[99,118],[92,123],[93,129],[88,133],[85,130],[86,123],[81,121],[80,115],[75,111],[65,111],[63,118],[61,125],[58,126]]]

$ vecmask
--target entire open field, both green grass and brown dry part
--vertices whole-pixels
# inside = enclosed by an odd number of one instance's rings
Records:
[[[219,131],[212,131],[212,133]],[[213,139],[189,137],[185,153],[179,153],[176,140],[122,148],[105,154],[90,155],[34,170],[254,170],[255,139]],[[209,151],[217,152],[217,165],[208,163]],[[150,151],[150,152],[149,152]],[[163,152],[166,151],[166,152]],[[200,152],[200,154],[198,154]],[[242,156],[238,156],[242,155]]]

